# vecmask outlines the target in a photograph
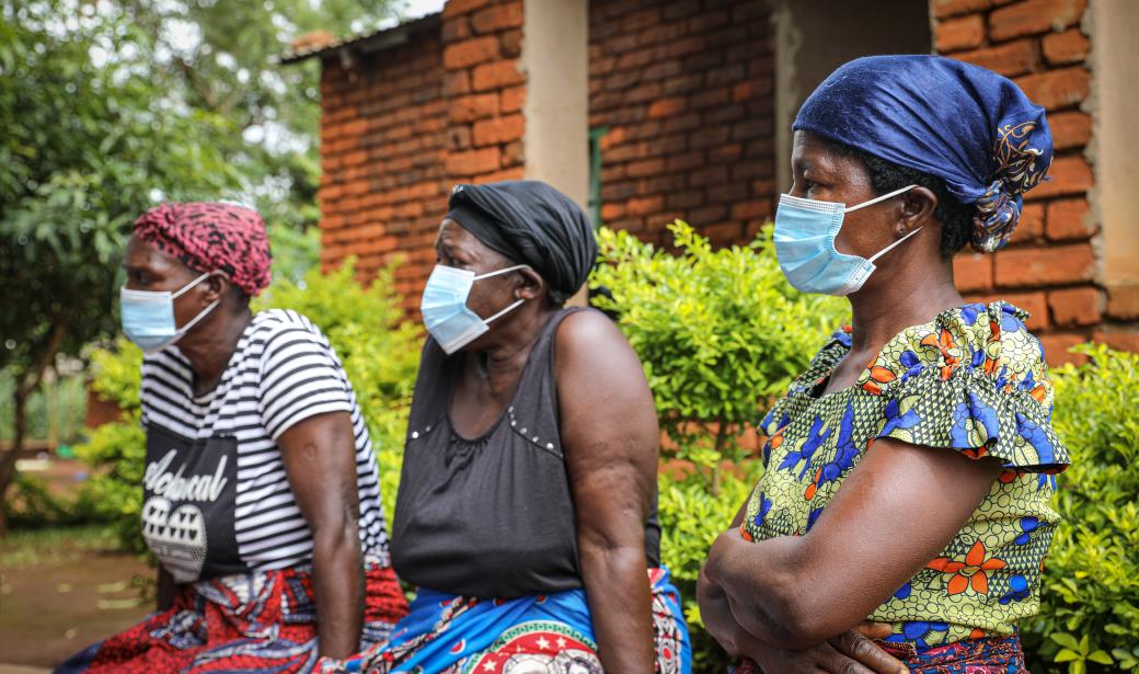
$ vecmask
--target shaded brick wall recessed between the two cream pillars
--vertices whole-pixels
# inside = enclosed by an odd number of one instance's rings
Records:
[[[589,22],[601,220],[654,242],[678,217],[749,241],[773,212],[767,3],[592,0]]]

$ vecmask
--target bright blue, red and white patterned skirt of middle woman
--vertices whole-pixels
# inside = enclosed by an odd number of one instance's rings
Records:
[[[691,642],[667,569],[649,569],[656,671],[689,674]],[[601,674],[582,590],[478,600],[420,588],[391,642],[344,668],[367,674]]]

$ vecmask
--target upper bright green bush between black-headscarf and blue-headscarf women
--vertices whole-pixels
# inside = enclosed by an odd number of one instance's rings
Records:
[[[618,312],[679,455],[713,466],[743,456],[738,436],[803,371],[845,303],[792,289],[769,229],[721,250],[679,220],[669,229],[679,255],[603,228],[590,287],[613,294],[598,306]]]

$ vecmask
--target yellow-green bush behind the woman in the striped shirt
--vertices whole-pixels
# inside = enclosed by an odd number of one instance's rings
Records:
[[[254,304],[255,310],[288,308],[304,314],[336,349],[376,445],[390,520],[420,342],[418,328],[403,316],[393,274],[394,268],[384,269],[364,287],[357,283],[351,261],[327,275],[312,269],[298,282],[278,279]],[[112,525],[122,545],[137,552],[146,550],[139,526],[146,457],[146,435],[139,424],[141,359],[141,351],[125,339],[93,354],[92,388],[116,403],[124,419],[95,430],[75,449],[93,469],[84,484],[87,502]]]

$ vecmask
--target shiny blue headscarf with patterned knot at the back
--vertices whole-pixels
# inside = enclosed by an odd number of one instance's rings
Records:
[[[1021,195],[1052,163],[1044,108],[1007,78],[941,56],[869,56],[830,74],[793,128],[945,181],[975,204],[973,247],[1013,236]]]

